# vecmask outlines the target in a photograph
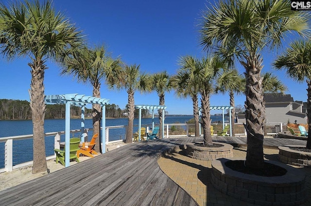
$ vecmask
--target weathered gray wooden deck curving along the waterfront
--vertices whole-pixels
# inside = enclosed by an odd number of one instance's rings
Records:
[[[1,206],[197,206],[164,174],[157,158],[201,138],[132,143],[104,155],[0,191]],[[245,137],[214,137],[215,142],[246,144]],[[265,139],[267,146],[305,145],[293,139]]]

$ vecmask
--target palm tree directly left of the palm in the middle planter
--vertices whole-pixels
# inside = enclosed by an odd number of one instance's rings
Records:
[[[194,128],[195,136],[200,136],[200,125],[199,125],[199,103],[198,103],[198,93],[199,85],[198,82],[189,81],[190,74],[188,71],[179,69],[177,74],[172,77],[172,86],[175,88],[176,95],[178,97],[187,98],[191,97],[193,105],[193,118],[194,118]]]

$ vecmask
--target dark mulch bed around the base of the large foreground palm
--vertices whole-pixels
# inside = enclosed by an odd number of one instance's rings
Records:
[[[225,162],[225,166],[240,173],[255,174],[258,176],[282,176],[287,173],[287,170],[283,167],[268,162],[264,162],[264,167],[262,169],[245,167],[244,160],[230,160]]]

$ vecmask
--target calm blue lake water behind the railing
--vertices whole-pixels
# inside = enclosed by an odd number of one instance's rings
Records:
[[[186,123],[192,116],[167,116],[164,123]],[[212,116],[212,121],[222,120],[220,116]],[[127,118],[120,119],[106,119],[106,127],[108,126],[126,126],[128,123]],[[141,119],[142,125],[152,127],[152,118]],[[159,124],[158,117],[155,117],[155,125]],[[138,119],[134,119],[134,125],[138,125]],[[80,129],[81,120],[71,119],[70,129]],[[85,128],[92,128],[92,119],[85,120]],[[137,131],[138,127],[134,127]],[[44,131],[57,132],[65,131],[65,119],[47,119],[44,121]],[[33,133],[32,120],[0,120],[0,137],[10,137],[18,135],[28,135]],[[89,133],[92,136],[92,133]],[[109,141],[125,139],[125,128],[109,129]],[[65,135],[61,136],[61,142],[65,141]],[[46,156],[54,154],[54,137],[46,137]],[[19,164],[33,159],[33,140],[18,140],[13,141],[13,164]],[[0,143],[0,168],[4,168],[4,143]]]

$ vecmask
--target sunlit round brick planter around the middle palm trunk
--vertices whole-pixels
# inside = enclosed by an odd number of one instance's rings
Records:
[[[217,158],[230,158],[233,157],[233,146],[226,143],[214,143],[222,144],[222,147],[203,147],[197,146],[195,143],[186,144],[186,155],[190,158],[211,161]]]

